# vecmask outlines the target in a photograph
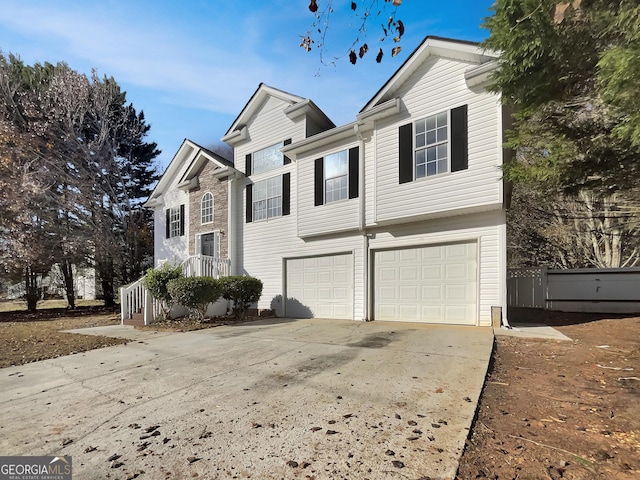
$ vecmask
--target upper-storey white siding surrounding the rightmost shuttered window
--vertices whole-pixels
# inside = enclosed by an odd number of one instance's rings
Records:
[[[502,202],[499,98],[467,88],[464,71],[468,66],[430,58],[396,92],[403,103],[401,118],[379,122],[374,137],[376,222]],[[399,184],[399,126],[465,104],[469,168]]]

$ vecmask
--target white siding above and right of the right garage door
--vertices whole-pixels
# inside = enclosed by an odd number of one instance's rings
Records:
[[[372,251],[389,248],[436,245],[452,242],[478,242],[478,324],[491,325],[491,307],[502,306],[500,294],[500,230],[503,211],[460,215],[418,224],[398,226],[375,234]]]

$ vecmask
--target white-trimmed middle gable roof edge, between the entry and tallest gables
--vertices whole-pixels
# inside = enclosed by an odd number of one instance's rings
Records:
[[[325,124],[328,128],[335,127],[335,124],[329,117],[310,99],[270,87],[265,83],[260,83],[240,114],[227,130],[227,133],[222,137],[222,141],[233,144],[237,140],[246,138],[246,124],[269,97],[274,97],[291,104],[291,106],[287,108],[288,111],[286,113],[288,115],[297,117],[301,114],[307,114],[319,123]]]

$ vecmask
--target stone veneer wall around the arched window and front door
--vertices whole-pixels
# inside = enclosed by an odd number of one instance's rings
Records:
[[[228,181],[213,177],[214,164],[207,162],[198,173],[199,186],[189,191],[189,255],[196,254],[196,234],[220,231],[220,256],[228,256],[227,238],[229,234],[229,210],[227,208]],[[213,194],[213,223],[202,225],[200,202],[206,192]],[[224,232],[224,233],[222,233]]]

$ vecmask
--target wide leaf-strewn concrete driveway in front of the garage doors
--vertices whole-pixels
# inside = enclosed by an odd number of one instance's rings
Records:
[[[488,328],[271,319],[0,370],[0,454],[77,479],[453,478]]]

